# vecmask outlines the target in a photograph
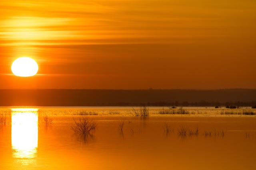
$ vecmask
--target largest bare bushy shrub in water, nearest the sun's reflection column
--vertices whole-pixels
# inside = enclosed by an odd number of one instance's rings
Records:
[[[75,133],[88,135],[96,129],[96,126],[96,121],[88,117],[80,117],[78,120],[74,119],[74,125],[71,128]]]

